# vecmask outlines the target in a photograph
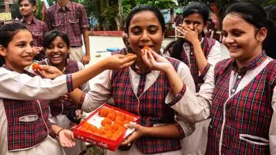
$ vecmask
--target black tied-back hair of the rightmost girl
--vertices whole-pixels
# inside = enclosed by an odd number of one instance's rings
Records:
[[[257,30],[266,28],[268,32],[266,34],[266,39],[264,39],[262,43],[262,48],[266,51],[268,56],[273,59],[276,58],[275,25],[272,20],[268,19],[266,11],[261,6],[250,2],[233,3],[233,5],[226,9],[224,17],[227,14],[235,14],[241,17],[244,21],[254,25]]]

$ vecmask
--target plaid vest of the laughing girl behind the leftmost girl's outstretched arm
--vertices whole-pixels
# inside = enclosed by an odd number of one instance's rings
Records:
[[[49,59],[39,61],[39,64],[52,65]],[[75,60],[66,59],[65,70],[63,70],[63,73],[70,74],[74,72],[79,72],[78,62]],[[56,101],[51,101],[50,103],[50,112],[52,116],[58,116],[59,114],[67,114],[72,109],[77,109],[77,105],[72,103],[72,101],[69,98],[62,103]]]

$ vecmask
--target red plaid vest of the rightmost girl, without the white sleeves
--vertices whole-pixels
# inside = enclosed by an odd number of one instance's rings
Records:
[[[263,63],[262,59],[266,57],[266,54],[263,54],[259,62],[256,61],[252,67],[257,67],[257,63]],[[270,154],[269,145],[267,143],[259,145],[259,143],[269,139],[273,114],[271,101],[276,84],[276,61],[270,61],[248,85],[228,99],[230,72],[233,70],[234,62],[234,59],[226,59],[215,66],[212,121],[208,127],[206,155]],[[238,74],[246,74],[246,71]],[[263,141],[257,141],[250,136],[249,138],[246,136],[245,139],[251,142],[245,141],[241,138],[244,134],[258,137]]]

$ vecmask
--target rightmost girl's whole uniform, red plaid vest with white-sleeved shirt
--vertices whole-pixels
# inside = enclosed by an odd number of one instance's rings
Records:
[[[211,117],[206,154],[276,154],[276,61],[259,54],[238,69],[235,59],[210,68],[194,95],[171,107],[194,123]]]

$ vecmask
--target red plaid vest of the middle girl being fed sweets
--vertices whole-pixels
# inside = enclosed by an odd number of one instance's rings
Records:
[[[125,50],[121,50],[119,53],[126,54],[125,52]],[[177,70],[180,61],[167,59]],[[175,111],[165,103],[166,96],[171,88],[166,74],[160,72],[155,83],[143,93],[145,83],[146,74],[141,74],[136,96],[132,91],[129,68],[112,71],[111,92],[115,106],[139,115],[141,117],[139,124],[145,127],[174,123]],[[135,141],[135,145],[143,154],[158,154],[181,149],[180,138],[141,137]]]

